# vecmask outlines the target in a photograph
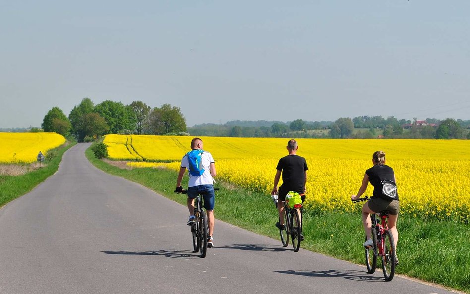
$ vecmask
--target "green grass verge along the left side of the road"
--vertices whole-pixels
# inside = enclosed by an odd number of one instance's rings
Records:
[[[75,145],[75,142],[68,142],[58,148],[49,150],[42,168],[20,176],[0,175],[0,206],[28,193],[54,174],[59,168],[63,153],[73,145]]]

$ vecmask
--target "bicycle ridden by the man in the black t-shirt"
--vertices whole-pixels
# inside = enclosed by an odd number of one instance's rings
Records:
[[[277,209],[277,194],[272,195],[274,204]],[[290,208],[286,201],[283,201],[284,212],[284,229],[279,229],[279,235],[281,236],[281,243],[283,247],[287,247],[289,245],[289,236],[291,236],[292,247],[294,248],[294,252],[297,252],[300,249],[300,242],[303,240],[302,234],[302,223],[301,218],[298,213],[298,209],[302,209],[302,204],[295,204],[294,208]],[[279,223],[281,220],[279,219]]]

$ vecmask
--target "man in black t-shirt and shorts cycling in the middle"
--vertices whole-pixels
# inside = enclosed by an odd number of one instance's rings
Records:
[[[278,227],[280,230],[284,229],[284,205],[282,201],[286,199],[286,195],[290,191],[299,193],[302,197],[302,202],[305,201],[305,183],[307,182],[308,170],[305,158],[297,155],[297,141],[294,139],[289,140],[286,148],[289,152],[289,155],[279,160],[276,167],[276,176],[274,176],[274,188],[271,191],[272,195],[278,193],[278,212],[280,221],[276,223],[276,227]],[[279,187],[278,191],[278,183],[279,179],[281,178],[281,172],[283,183],[281,187]]]

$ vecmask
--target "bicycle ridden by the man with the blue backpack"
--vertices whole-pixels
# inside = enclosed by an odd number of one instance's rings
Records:
[[[214,191],[218,191],[219,188],[214,188]],[[187,190],[182,190],[181,194],[187,194]],[[201,258],[206,257],[207,253],[207,240],[209,236],[209,227],[207,225],[207,214],[204,210],[204,193],[206,191],[198,191],[196,198],[194,198],[194,216],[195,223],[191,226],[192,234],[192,245],[194,252],[199,252]]]

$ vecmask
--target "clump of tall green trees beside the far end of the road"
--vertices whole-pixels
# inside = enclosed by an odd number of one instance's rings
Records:
[[[180,108],[170,104],[151,108],[142,101],[124,105],[105,100],[95,105],[89,98],[75,105],[68,117],[59,107],[53,107],[44,116],[41,127],[45,132],[74,136],[78,142],[105,134],[181,134],[187,129]]]

